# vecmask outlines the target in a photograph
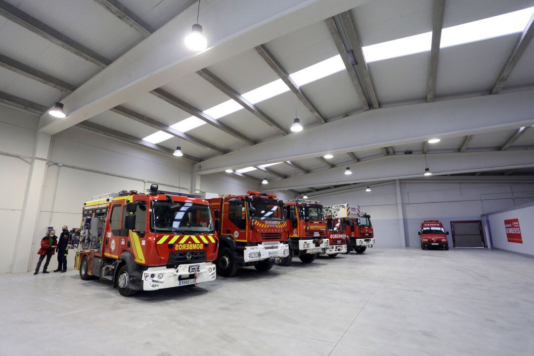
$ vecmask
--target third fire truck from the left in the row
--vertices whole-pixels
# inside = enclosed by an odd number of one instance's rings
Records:
[[[323,205],[310,200],[286,201],[289,255],[280,265],[289,266],[293,256],[304,263],[312,263],[328,249]]]

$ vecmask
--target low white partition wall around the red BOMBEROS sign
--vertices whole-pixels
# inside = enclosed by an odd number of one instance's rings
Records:
[[[519,209],[511,208],[504,212],[489,213],[488,220],[490,223],[493,247],[534,256],[534,238],[532,235],[532,231],[534,231],[534,219],[532,219],[533,216],[534,205],[531,204]],[[505,219],[519,220],[521,239],[523,240],[523,243],[508,242],[504,226]]]

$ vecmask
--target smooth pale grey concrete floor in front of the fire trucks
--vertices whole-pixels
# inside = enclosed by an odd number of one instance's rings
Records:
[[[2,275],[0,354],[489,356],[534,349],[534,259],[373,248],[296,261],[132,298],[108,282],[82,281],[72,268]]]

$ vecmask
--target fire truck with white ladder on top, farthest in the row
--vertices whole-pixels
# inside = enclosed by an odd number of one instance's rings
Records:
[[[338,204],[325,207],[325,213],[333,219],[343,219],[345,233],[349,237],[347,241],[347,254],[355,250],[357,254],[363,254],[367,247],[375,244],[371,216],[360,211],[359,205]]]

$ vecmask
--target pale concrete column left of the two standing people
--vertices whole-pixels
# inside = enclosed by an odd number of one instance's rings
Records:
[[[33,159],[28,173],[17,240],[15,240],[14,256],[11,262],[11,273],[28,272],[33,268],[29,266],[29,263],[30,256],[37,253],[33,246],[33,241],[35,240],[35,229],[41,208],[44,179],[48,168],[50,143],[50,135],[36,133]]]

